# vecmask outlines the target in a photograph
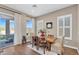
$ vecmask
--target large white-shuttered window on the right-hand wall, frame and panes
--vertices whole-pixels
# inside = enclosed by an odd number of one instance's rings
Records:
[[[60,16],[57,19],[57,36],[72,39],[72,15]]]

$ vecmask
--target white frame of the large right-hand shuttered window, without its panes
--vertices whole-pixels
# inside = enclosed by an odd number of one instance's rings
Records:
[[[70,26],[65,26],[65,18],[70,17]],[[63,20],[63,27],[59,26],[59,20],[62,18]],[[63,35],[59,36],[59,28],[63,28]],[[61,38],[65,36],[65,28],[70,28],[70,37],[64,37],[65,39],[72,40],[72,14],[63,15],[57,17],[57,37]]]

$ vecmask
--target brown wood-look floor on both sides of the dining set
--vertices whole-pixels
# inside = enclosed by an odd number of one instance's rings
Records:
[[[71,48],[64,48],[64,55],[78,55],[77,51]],[[18,45],[5,48],[1,55],[40,55],[39,53],[28,48],[27,45]]]

